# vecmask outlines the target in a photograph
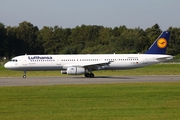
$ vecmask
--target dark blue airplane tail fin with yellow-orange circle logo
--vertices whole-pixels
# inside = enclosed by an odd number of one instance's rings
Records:
[[[169,31],[162,32],[156,41],[151,45],[149,50],[145,52],[145,54],[166,54],[169,37]]]

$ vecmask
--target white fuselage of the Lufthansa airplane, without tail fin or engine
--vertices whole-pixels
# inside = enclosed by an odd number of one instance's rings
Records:
[[[66,70],[68,67],[86,65],[96,66],[93,66],[93,70],[122,70],[148,66],[172,58],[171,55],[156,54],[22,55],[14,57],[4,66],[22,71]],[[109,64],[102,64],[107,62]]]

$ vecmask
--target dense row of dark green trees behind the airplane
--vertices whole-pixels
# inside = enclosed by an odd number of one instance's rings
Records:
[[[169,27],[171,32],[167,54],[180,54],[180,28]],[[44,26],[39,29],[23,21],[19,26],[0,23],[0,57],[8,59],[23,54],[113,54],[143,53],[162,30],[158,24],[145,30],[97,25],[75,28]]]

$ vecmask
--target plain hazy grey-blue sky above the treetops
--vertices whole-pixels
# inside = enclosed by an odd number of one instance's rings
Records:
[[[180,27],[180,0],[0,0],[0,22],[18,26],[27,21],[43,26],[75,28],[101,25],[161,30]]]

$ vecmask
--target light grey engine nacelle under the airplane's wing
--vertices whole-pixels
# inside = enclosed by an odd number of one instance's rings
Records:
[[[68,74],[68,75],[80,75],[85,73],[85,69],[81,67],[68,67],[67,70],[62,70],[62,74]]]

